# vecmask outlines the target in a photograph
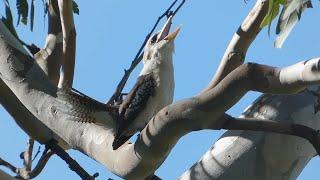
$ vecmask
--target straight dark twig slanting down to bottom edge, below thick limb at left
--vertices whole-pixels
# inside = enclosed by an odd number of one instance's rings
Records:
[[[72,157],[69,156],[69,154],[57,144],[56,140],[51,140],[46,143],[46,148],[52,150],[61,159],[63,159],[69,165],[69,168],[76,172],[82,179],[95,179],[99,175],[98,173],[95,173],[93,176],[90,176],[89,173],[87,173],[77,161],[72,159]]]

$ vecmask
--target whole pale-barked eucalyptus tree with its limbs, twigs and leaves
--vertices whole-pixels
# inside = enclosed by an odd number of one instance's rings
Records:
[[[86,154],[125,179],[156,178],[154,172],[178,140],[203,129],[230,131],[181,179],[294,179],[320,152],[318,115],[313,113],[318,110],[320,95],[317,86],[308,90],[320,83],[320,58],[284,68],[244,63],[259,32],[268,28],[271,33],[271,24],[277,17],[275,46],[281,47],[304,10],[312,7],[310,0],[257,0],[234,33],[207,87],[194,97],[164,107],[134,143],[126,142],[116,150],[112,148],[118,125],[115,114],[125,96],[126,80],[141,60],[142,48],[112,98],[101,103],[72,87],[77,45],[73,15],[79,14],[76,2],[44,2],[48,35],[43,48],[22,40],[15,31],[9,1],[3,2],[6,16],[0,21],[0,102],[30,140],[21,155],[24,167],[16,168],[2,159],[0,164],[20,178],[36,177],[53,154],[63,158],[80,177],[95,178],[64,152],[68,149]],[[29,24],[31,30],[34,3],[16,2],[17,22]],[[156,25],[163,17],[174,17],[185,1],[176,3],[159,17]],[[176,10],[172,9],[174,5]],[[251,90],[266,94],[243,117],[226,113]],[[46,149],[32,168],[34,140],[46,145]],[[4,172],[0,175],[9,178]]]

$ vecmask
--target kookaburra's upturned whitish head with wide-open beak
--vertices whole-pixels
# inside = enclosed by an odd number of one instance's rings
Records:
[[[174,51],[174,40],[177,37],[180,27],[170,33],[172,24],[170,16],[160,32],[153,34],[144,48],[143,62],[151,59],[162,59],[161,57],[172,56]],[[167,58],[164,58],[167,59]]]

